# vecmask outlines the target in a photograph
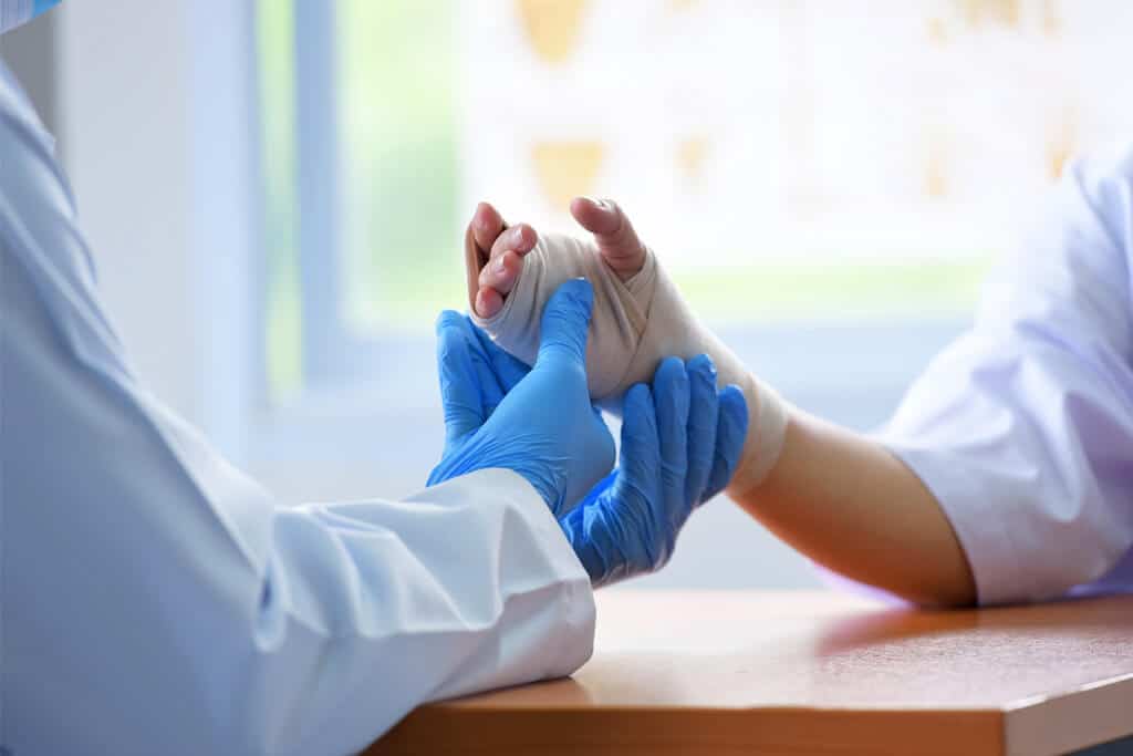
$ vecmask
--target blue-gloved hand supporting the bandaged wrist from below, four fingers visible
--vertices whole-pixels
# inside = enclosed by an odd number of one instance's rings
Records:
[[[735,385],[716,391],[707,355],[661,363],[653,390],[625,393],[619,468],[560,519],[594,587],[661,569],[692,510],[735,470],[748,407]]]

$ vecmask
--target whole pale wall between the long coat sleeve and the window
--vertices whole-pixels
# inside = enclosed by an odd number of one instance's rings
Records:
[[[134,365],[239,453],[255,216],[250,3],[66,2],[60,142]]]

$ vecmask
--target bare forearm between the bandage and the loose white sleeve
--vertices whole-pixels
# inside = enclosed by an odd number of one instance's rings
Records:
[[[976,601],[968,560],[932,494],[879,444],[794,410],[778,461],[744,510],[816,562],[919,604]]]

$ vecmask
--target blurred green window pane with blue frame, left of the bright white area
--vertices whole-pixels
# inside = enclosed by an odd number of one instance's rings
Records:
[[[427,368],[437,312],[460,306],[454,8],[259,5],[275,398],[375,381],[416,396],[415,371],[382,366]]]

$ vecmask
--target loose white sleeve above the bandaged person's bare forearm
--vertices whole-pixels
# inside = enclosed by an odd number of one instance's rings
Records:
[[[1133,151],[1072,164],[1038,218],[880,436],[985,604],[1100,585],[1133,545]]]

